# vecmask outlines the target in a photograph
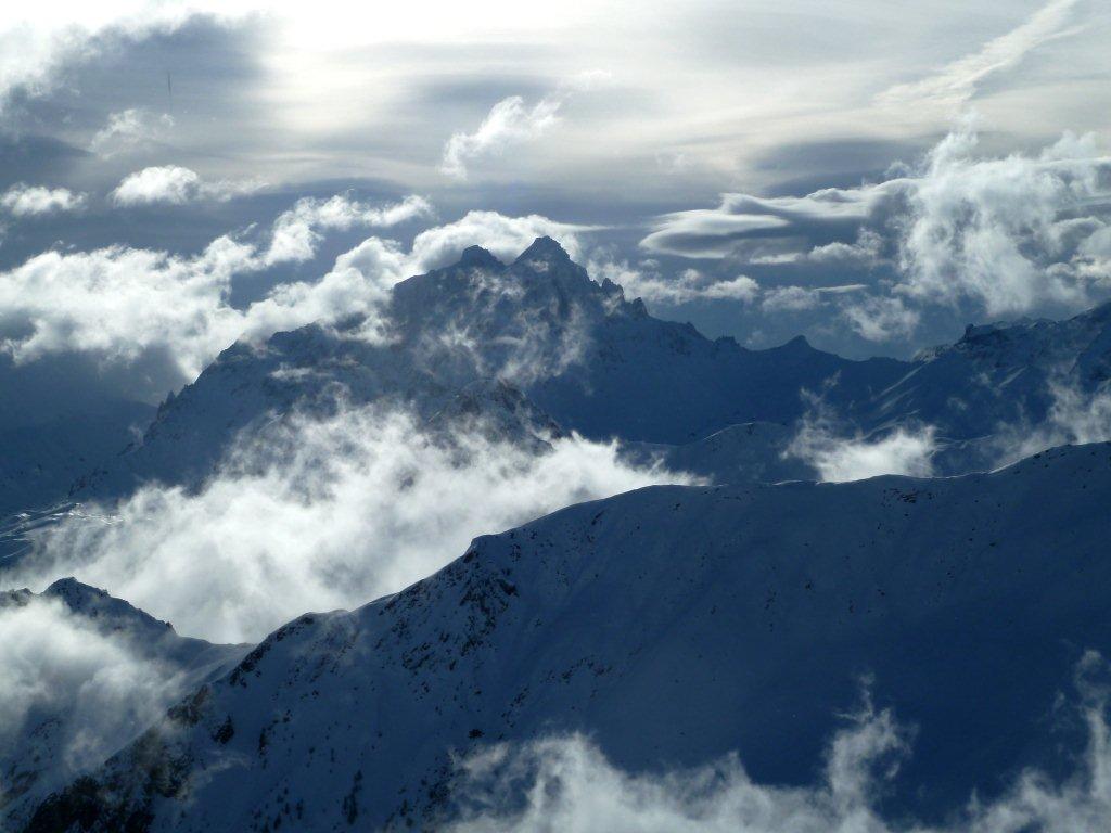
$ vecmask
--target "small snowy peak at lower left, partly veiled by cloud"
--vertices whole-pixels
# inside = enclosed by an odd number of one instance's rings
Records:
[[[0,592],[0,630],[9,641],[0,649],[8,663],[0,689],[9,699],[0,743],[3,830],[26,822],[89,761],[99,763],[134,740],[182,694],[222,676],[250,649],[180,636],[169,623],[73,579],[42,593]],[[40,639],[48,653],[58,651],[57,663],[23,653]],[[69,651],[88,654],[88,665]],[[21,713],[9,735],[8,710],[16,706]]]

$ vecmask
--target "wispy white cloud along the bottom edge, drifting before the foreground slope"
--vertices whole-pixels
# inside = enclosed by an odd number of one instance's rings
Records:
[[[1088,747],[1071,775],[1057,781],[1028,769],[997,799],[969,800],[941,826],[879,809],[911,751],[911,730],[890,710],[865,706],[825,751],[820,781],[774,786],[753,781],[737,754],[688,770],[622,771],[581,734],[498,744],[457,761],[451,833],[547,833],[621,830],[638,833],[1074,833],[1111,819],[1111,743],[1107,692],[1085,675],[1102,660],[1088,652],[1078,670],[1079,711]],[[1070,710],[1075,709],[1070,704]],[[929,742],[929,739],[923,739]]]

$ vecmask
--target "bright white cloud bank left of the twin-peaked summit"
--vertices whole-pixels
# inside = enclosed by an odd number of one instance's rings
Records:
[[[409,260],[372,238],[320,280],[279,284],[247,309],[229,301],[236,275],[312,258],[320,229],[396,223],[429,211],[418,197],[372,207],[341,195],[299,201],[279,215],[262,248],[224,235],[192,257],[129,247],[44,252],[0,273],[0,350],[17,363],[67,351],[124,364],[160,357],[174,373],[158,385],[161,393],[194,379],[244,333],[263,339],[368,311],[404,277]]]

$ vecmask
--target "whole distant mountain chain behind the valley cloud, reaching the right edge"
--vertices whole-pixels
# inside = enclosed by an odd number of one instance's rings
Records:
[[[374,321],[229,348],[163,403],[140,442],[80,478],[73,496],[126,495],[150,480],[196,484],[237,435],[292,411],[377,402],[423,421],[452,413],[460,397],[470,397],[471,418],[481,403],[483,418],[508,424],[526,408],[548,430],[617,438],[638,454],[670,458],[665,446],[691,443],[674,459],[720,482],[817,476],[783,456],[792,432],[745,428],[797,426],[815,407],[849,435],[932,425],[938,471],[960,473],[993,468],[1005,456],[993,439],[1001,430],[1044,421],[1062,385],[1090,394],[1109,367],[1111,305],[1062,322],[970,328],[913,362],[849,361],[801,338],[747,350],[653,318],[541,238],[508,265],[474,247],[402,281]],[[474,398],[478,389],[502,393]]]

